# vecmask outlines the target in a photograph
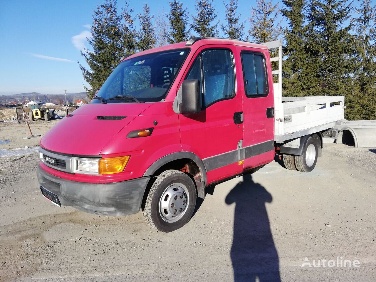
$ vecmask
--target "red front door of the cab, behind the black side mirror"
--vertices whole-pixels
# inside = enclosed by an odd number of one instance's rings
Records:
[[[233,45],[201,47],[183,76],[183,80],[199,80],[201,112],[179,114],[182,149],[203,160],[208,183],[243,169],[237,152],[243,125],[234,122],[234,114],[243,111],[241,96],[236,93],[235,51]]]

